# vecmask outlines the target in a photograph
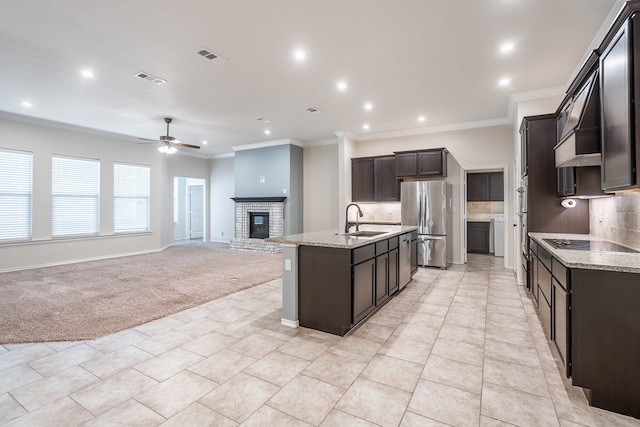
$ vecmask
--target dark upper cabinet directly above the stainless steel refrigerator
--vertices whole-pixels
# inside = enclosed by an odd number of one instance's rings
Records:
[[[446,178],[445,148],[396,152],[397,178]]]

